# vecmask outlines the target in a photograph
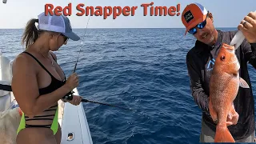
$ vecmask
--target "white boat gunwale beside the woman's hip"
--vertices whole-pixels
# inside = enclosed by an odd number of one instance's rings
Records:
[[[74,89],[74,95],[79,95],[78,90]],[[63,109],[64,104],[64,109]],[[92,144],[90,129],[86,120],[85,110],[82,102],[78,106],[71,105],[69,102],[59,101],[59,119],[62,127],[62,144]],[[64,113],[62,113],[62,110]],[[72,135],[72,136],[70,136]]]

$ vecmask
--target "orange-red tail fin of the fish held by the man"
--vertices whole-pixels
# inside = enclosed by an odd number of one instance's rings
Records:
[[[217,124],[214,142],[234,142],[234,138],[230,134],[226,122]]]

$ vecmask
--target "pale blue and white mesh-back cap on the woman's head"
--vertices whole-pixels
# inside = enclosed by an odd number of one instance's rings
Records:
[[[39,14],[38,29],[61,33],[73,41],[80,39],[80,37],[72,31],[70,19],[64,15],[46,15],[45,12]]]

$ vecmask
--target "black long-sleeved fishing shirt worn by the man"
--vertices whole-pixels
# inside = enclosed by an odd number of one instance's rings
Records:
[[[210,74],[214,67],[215,58],[222,43],[230,44],[237,31],[223,32],[218,30],[218,40],[214,46],[208,46],[197,41],[195,46],[186,55],[187,70],[190,77],[190,89],[196,104],[202,110],[202,120],[211,130],[216,131],[216,124],[210,117],[208,108],[210,94]],[[248,74],[247,63],[256,68],[256,44],[244,40],[235,54],[240,62],[239,75],[250,89],[239,87],[238,95],[234,99],[234,108],[239,114],[238,124],[228,126],[234,140],[247,138],[254,131],[254,96]],[[255,71],[256,72],[256,71]]]

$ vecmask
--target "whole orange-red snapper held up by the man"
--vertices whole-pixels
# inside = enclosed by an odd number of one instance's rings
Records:
[[[247,82],[239,77],[240,64],[235,55],[234,46],[222,44],[214,62],[214,69],[210,76],[210,116],[217,122],[214,142],[235,142],[227,128],[227,117],[236,114],[234,99],[239,86],[249,88]],[[234,122],[234,125],[238,122]]]

